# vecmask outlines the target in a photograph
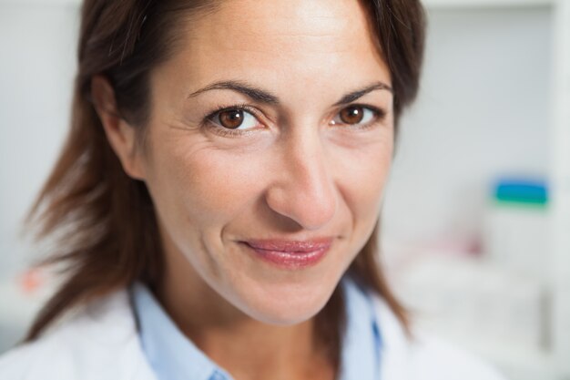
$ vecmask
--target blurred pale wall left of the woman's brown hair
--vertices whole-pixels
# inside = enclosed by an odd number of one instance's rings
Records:
[[[66,134],[77,12],[0,3],[0,280],[29,257],[21,222]]]

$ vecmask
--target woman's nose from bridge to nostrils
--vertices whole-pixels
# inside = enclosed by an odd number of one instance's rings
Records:
[[[266,192],[270,209],[303,229],[318,230],[333,218],[337,193],[318,134],[290,136],[281,145],[276,180]]]

